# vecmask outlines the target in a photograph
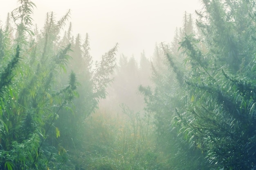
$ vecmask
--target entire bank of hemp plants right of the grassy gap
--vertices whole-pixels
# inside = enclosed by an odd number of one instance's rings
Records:
[[[155,88],[140,91],[146,109],[156,116],[159,144],[164,137],[174,143],[170,150],[175,168],[189,164],[188,169],[254,169],[255,3],[202,2],[203,11],[197,11],[199,34],[184,34],[180,54],[173,51],[175,44],[162,45],[169,65],[164,72],[154,66]],[[164,75],[171,80],[165,82]]]

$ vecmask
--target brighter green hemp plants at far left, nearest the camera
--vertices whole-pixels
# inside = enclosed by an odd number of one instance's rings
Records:
[[[72,100],[76,84],[75,74],[71,74],[68,85],[54,88],[59,68],[69,59],[70,46],[52,52],[54,43],[47,46],[52,43],[47,38],[38,37],[37,42],[31,38],[34,33],[30,15],[34,4],[19,2],[21,6],[12,13],[16,37],[7,37],[12,34],[7,26],[1,39],[1,63],[7,64],[6,68],[1,68],[4,71],[1,83],[7,90],[0,104],[3,122],[0,167],[8,170],[46,168],[49,155],[43,152],[43,143],[49,135],[48,127],[53,125],[58,111]],[[46,35],[52,36],[50,32]],[[40,43],[44,45],[38,46]],[[16,44],[22,49],[18,47],[16,57],[10,60]],[[14,68],[17,64],[19,67]]]

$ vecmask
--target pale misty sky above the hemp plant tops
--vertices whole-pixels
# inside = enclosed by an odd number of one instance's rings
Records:
[[[17,7],[17,0],[2,0],[0,20]],[[155,43],[171,42],[176,27],[182,26],[184,11],[200,9],[199,0],[34,0],[34,22],[42,28],[46,13],[56,19],[71,9],[72,33],[90,36],[91,54],[99,59],[119,43],[118,56],[153,54]],[[67,26],[68,27],[68,26]]]

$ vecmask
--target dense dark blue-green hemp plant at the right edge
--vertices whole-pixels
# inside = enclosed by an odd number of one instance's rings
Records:
[[[181,43],[188,56],[187,113],[179,113],[215,168],[253,169],[254,2],[204,2],[204,33]],[[206,48],[200,49],[200,42]],[[188,120],[188,118],[190,119]]]

